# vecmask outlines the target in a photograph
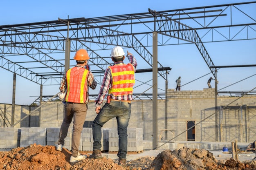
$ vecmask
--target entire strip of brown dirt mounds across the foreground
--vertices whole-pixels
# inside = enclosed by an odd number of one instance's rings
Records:
[[[88,155],[81,152],[83,155]],[[211,152],[182,148],[165,150],[157,157],[141,157],[127,161],[128,168],[117,165],[117,159],[85,159],[69,163],[71,152],[54,146],[30,145],[0,151],[1,170],[256,170],[255,162],[241,163],[229,159],[218,163]]]

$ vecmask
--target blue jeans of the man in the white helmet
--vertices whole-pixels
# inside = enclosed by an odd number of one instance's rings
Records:
[[[127,154],[127,127],[130,120],[131,104],[128,102],[111,101],[106,103],[92,122],[93,150],[101,150],[101,127],[110,119],[117,119],[118,153],[121,159]]]

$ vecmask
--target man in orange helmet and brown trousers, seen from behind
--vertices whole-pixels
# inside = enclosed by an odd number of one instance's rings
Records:
[[[95,81],[92,72],[86,69],[89,68],[89,59],[90,57],[85,49],[76,51],[76,54],[74,55],[76,66],[68,69],[61,80],[60,91],[65,94],[63,97],[63,100],[65,101],[65,114],[61,124],[56,150],[62,151],[68,128],[74,118],[70,163],[83,160],[87,157],[86,155],[80,155],[79,153],[80,138],[88,108],[88,88],[95,89],[97,86],[97,82]]]

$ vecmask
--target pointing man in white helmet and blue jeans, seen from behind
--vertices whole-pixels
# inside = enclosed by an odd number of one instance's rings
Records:
[[[118,164],[126,167],[127,127],[131,114],[132,87],[135,84],[134,73],[137,61],[132,53],[127,51],[126,56],[130,63],[124,64],[124,55],[124,50],[120,46],[115,46],[111,51],[114,65],[106,69],[99,95],[95,101],[97,116],[92,122],[93,152],[89,158],[102,158],[101,127],[110,119],[116,118],[119,135]],[[107,95],[107,101],[101,108],[105,95]]]

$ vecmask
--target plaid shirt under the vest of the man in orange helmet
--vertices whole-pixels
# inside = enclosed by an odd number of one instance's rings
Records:
[[[84,66],[79,66],[79,65],[76,65],[75,67],[84,68]],[[89,75],[87,78],[87,85],[88,85],[88,87],[90,87],[92,89],[95,89],[97,86],[97,82],[94,80],[94,76],[93,76],[92,72],[90,72],[90,71],[89,71]],[[66,89],[67,89],[67,78],[66,78],[66,73],[65,73],[61,79],[60,91],[62,93],[64,93]],[[89,101],[89,95],[87,94],[85,103],[88,103],[88,101]]]

